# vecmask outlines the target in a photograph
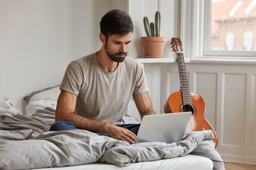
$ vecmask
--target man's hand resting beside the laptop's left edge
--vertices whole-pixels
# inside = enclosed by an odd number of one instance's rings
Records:
[[[108,127],[107,134],[114,139],[126,141],[129,144],[134,144],[136,139],[136,135],[130,130],[112,124]]]

